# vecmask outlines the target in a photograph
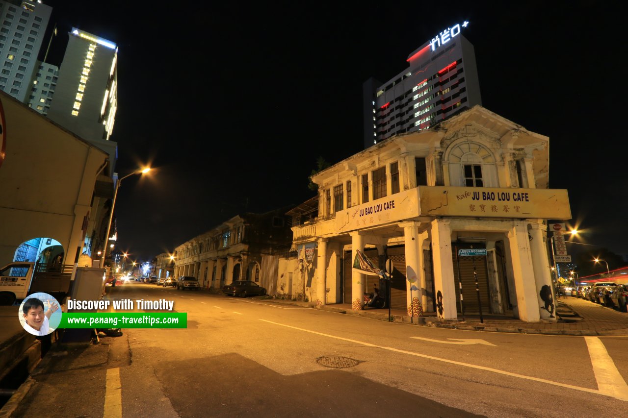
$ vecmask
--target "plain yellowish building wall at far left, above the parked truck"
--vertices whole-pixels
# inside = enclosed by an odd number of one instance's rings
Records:
[[[0,264],[36,237],[58,240],[63,262],[73,263],[107,154],[8,95],[0,92],[0,100],[7,134],[0,167]]]

